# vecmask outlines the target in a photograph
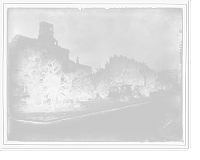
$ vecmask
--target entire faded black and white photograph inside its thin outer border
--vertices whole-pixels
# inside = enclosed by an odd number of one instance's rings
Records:
[[[186,5],[61,6],[7,7],[6,143],[185,144]]]

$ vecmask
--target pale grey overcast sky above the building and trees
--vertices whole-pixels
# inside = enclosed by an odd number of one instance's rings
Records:
[[[41,21],[54,25],[54,37],[71,60],[78,56],[93,71],[114,54],[155,70],[180,66],[181,9],[10,9],[8,42],[16,34],[37,38]]]

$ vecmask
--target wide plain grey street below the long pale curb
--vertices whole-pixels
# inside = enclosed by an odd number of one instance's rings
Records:
[[[180,96],[53,124],[11,121],[8,135],[16,141],[164,141],[157,135],[164,114],[179,108]]]

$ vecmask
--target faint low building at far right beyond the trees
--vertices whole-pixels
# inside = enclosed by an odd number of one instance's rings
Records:
[[[161,76],[161,72],[163,72],[163,77]],[[182,72],[180,69],[171,69],[171,70],[157,70],[155,71],[157,76],[157,81],[163,80],[164,85],[168,87],[168,89],[172,90],[180,90],[182,84]]]

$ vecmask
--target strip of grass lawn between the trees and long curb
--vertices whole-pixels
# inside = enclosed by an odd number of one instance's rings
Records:
[[[109,99],[96,99],[89,101],[82,101],[81,104],[86,105],[86,108],[70,108],[66,107],[57,107],[54,111],[50,111],[45,108],[30,108],[26,102],[19,99],[13,100],[10,102],[11,105],[8,107],[8,117],[22,118],[22,119],[31,119],[31,120],[53,120],[57,118],[63,118],[68,116],[74,116],[83,113],[89,113],[93,111],[99,111],[102,109],[113,108],[117,106],[122,106],[126,104],[132,104],[136,102],[142,102],[150,99],[155,99],[158,97],[140,97],[134,98],[131,97],[128,101],[119,101],[116,97],[110,97]],[[13,104],[13,105],[12,105]],[[12,107],[10,107],[12,106]]]

